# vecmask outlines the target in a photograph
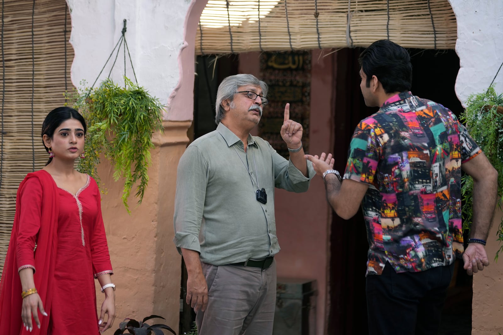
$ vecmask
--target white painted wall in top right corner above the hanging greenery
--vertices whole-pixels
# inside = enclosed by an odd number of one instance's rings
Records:
[[[483,92],[503,62],[503,1],[449,0],[456,15],[456,53],[460,69],[456,94],[464,103],[468,95]],[[496,79],[496,92],[503,92],[503,68]]]

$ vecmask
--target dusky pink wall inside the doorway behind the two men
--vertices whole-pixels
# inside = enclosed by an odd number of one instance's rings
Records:
[[[323,58],[313,51],[311,65],[310,152],[332,152],[332,57]],[[259,72],[259,53],[239,55],[239,71]],[[267,106],[265,108],[267,113]],[[278,130],[279,131],[279,130]],[[326,297],[331,210],[325,199],[325,188],[319,177],[311,181],[306,193],[276,190],[276,226],[281,247],[276,260],[278,278],[316,279],[316,334],[325,333]]]

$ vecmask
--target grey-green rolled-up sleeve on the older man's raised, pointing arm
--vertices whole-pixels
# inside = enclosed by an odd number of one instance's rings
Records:
[[[274,164],[274,183],[278,188],[283,188],[290,192],[306,192],[309,188],[310,180],[316,172],[310,161],[307,161],[307,177],[293,165],[291,160],[286,160],[271,147]]]

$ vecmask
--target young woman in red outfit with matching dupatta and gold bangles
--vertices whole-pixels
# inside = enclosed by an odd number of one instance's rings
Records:
[[[83,157],[85,135],[86,122],[73,108],[55,108],[44,120],[50,158],[17,192],[0,282],[0,334],[96,335],[114,322],[100,191],[91,176],[73,168]],[[100,317],[94,278],[105,293]]]

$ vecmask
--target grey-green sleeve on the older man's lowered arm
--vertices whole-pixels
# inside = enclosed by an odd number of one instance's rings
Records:
[[[203,218],[208,161],[197,146],[189,146],[180,159],[177,169],[173,241],[180,248],[201,252],[199,231]]]

